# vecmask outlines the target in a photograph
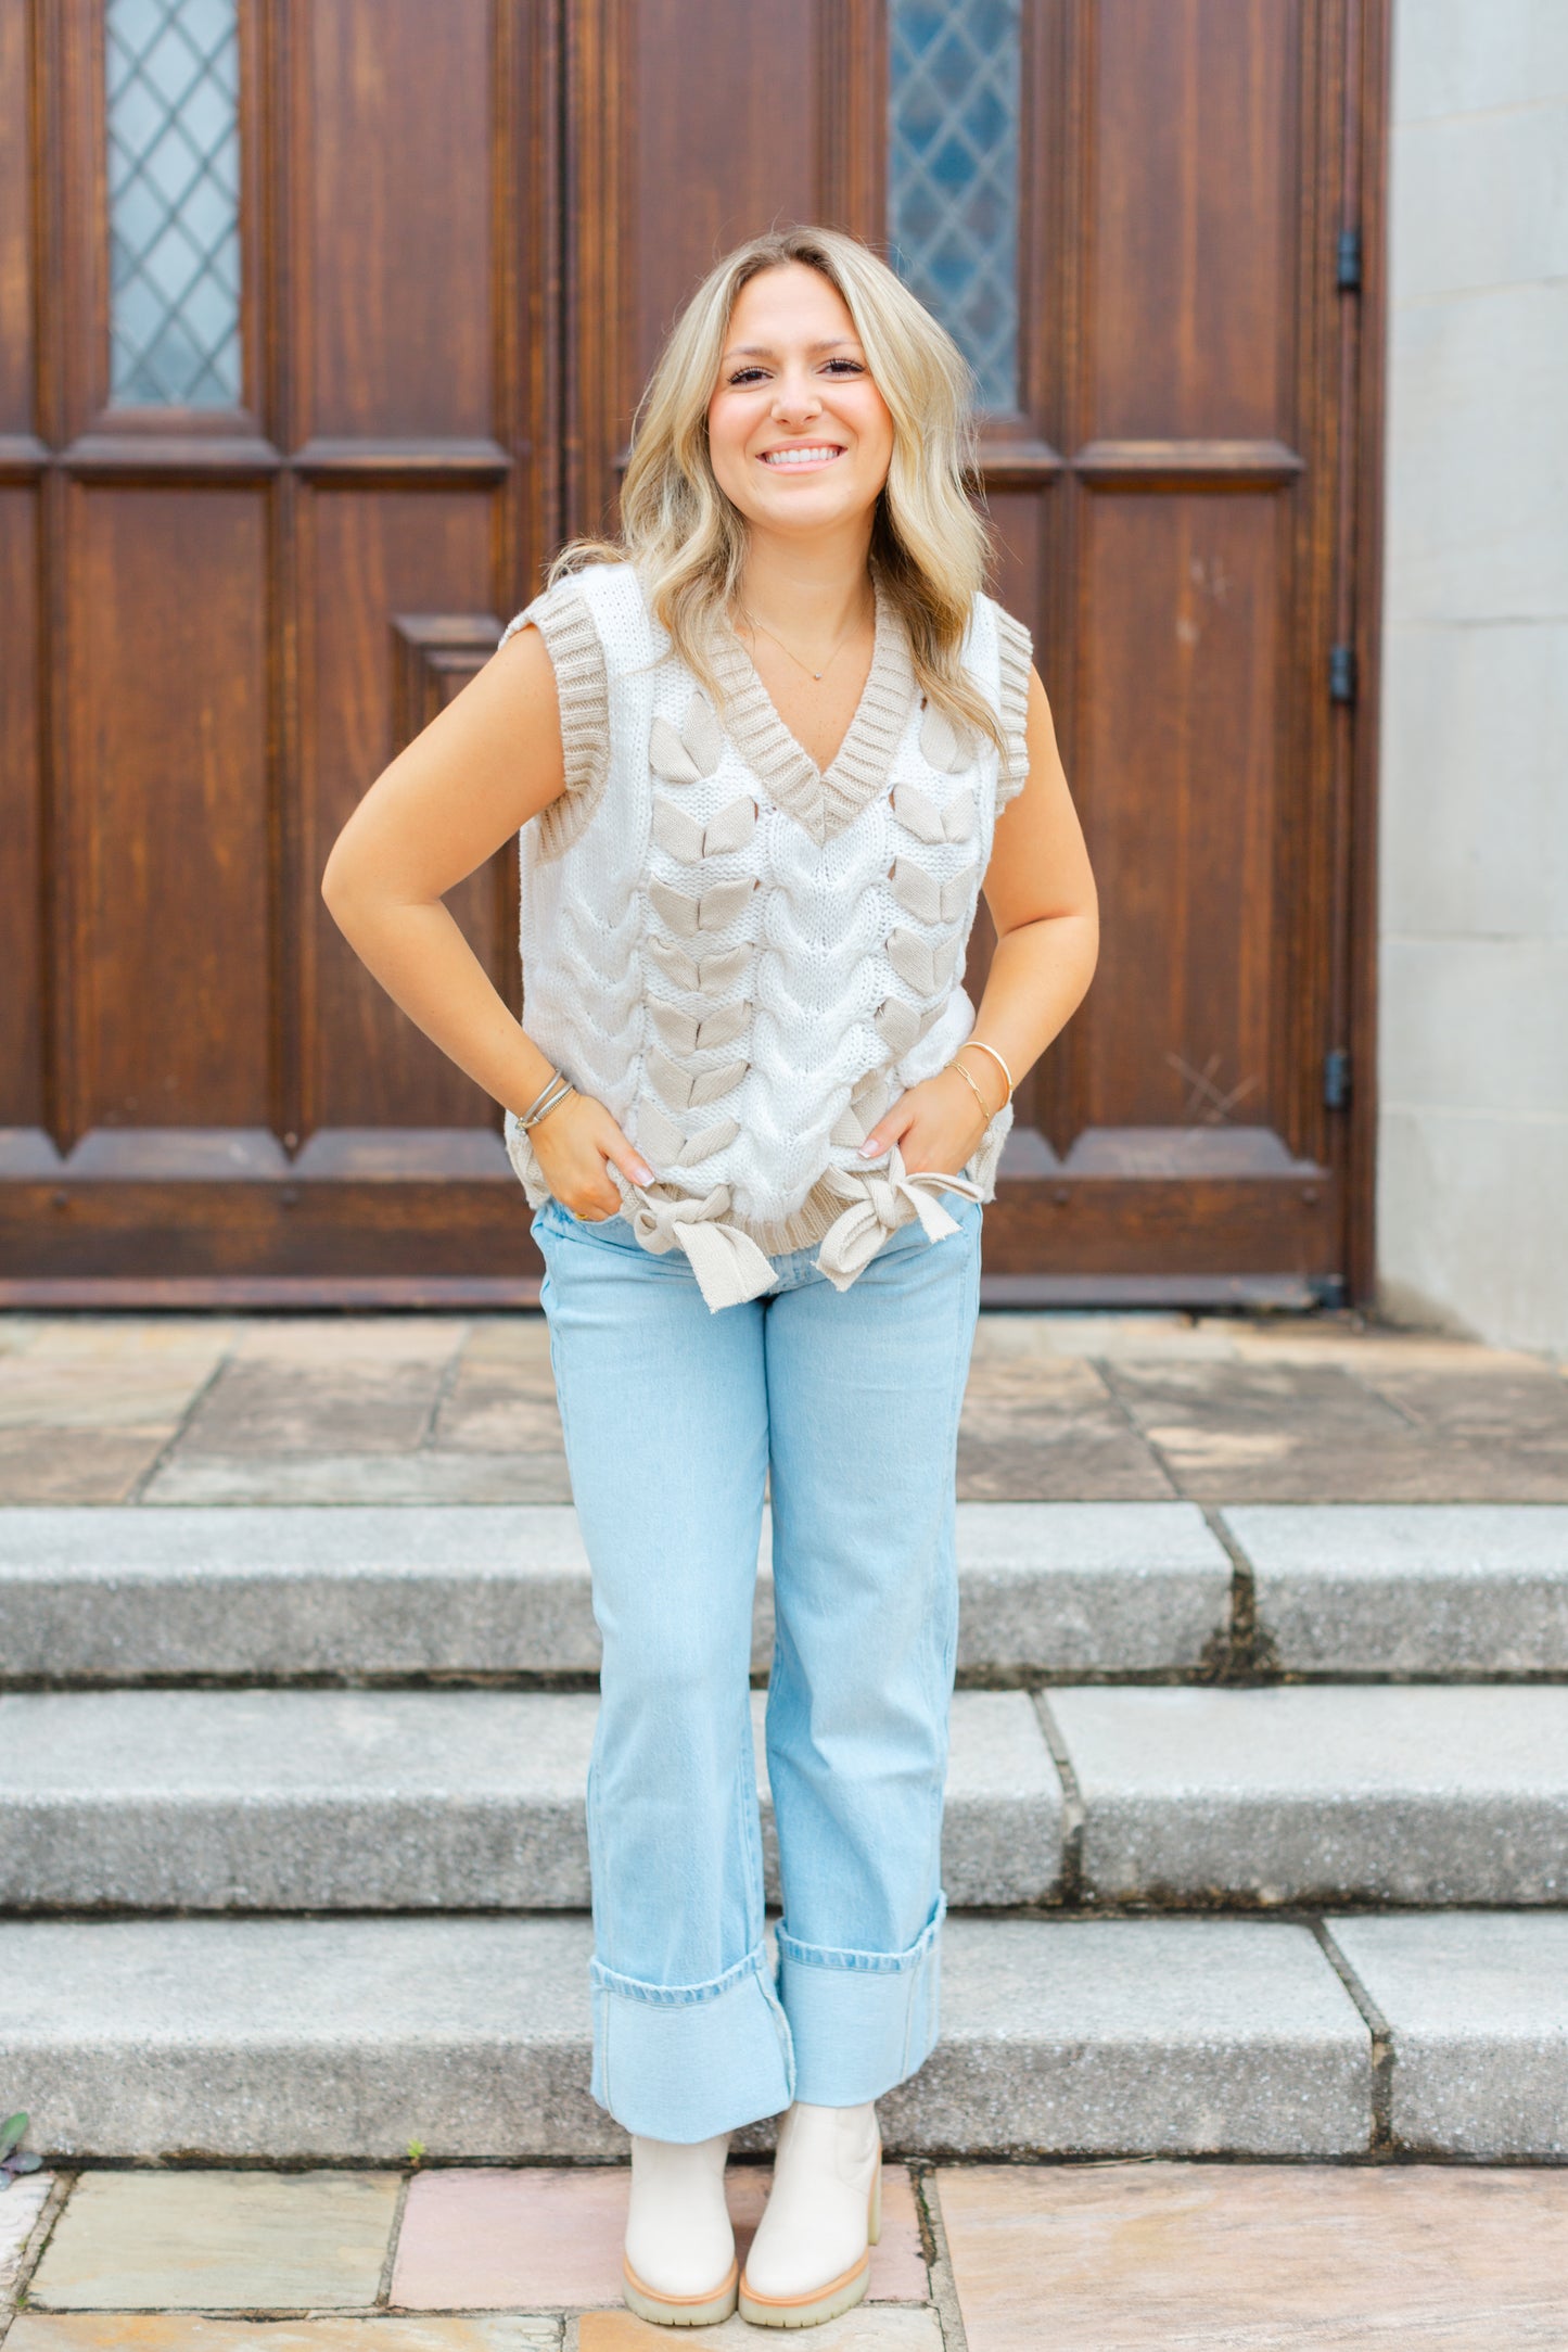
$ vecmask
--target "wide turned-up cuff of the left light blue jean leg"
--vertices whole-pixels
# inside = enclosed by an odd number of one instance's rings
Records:
[[[766,1947],[705,1985],[644,1985],[588,1962],[595,2100],[651,2140],[712,2140],[795,2098],[790,2025]]]

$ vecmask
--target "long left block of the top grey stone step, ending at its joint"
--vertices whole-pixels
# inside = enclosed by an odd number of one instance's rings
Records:
[[[773,1621],[769,1524],[755,1665]],[[961,1503],[959,1672],[1192,1672],[1232,1569],[1194,1503]],[[0,1675],[590,1675],[569,1503],[0,1510]]]

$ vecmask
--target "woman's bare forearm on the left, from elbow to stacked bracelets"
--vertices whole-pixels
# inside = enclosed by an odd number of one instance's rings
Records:
[[[527,1110],[543,1094],[550,1061],[496,995],[440,898],[397,903],[336,894],[329,908],[367,971],[477,1087],[508,1110]]]

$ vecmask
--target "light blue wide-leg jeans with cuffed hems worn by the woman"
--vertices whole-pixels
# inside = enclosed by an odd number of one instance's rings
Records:
[[[983,1214],[943,1207],[957,1232],[900,1225],[846,1291],[797,1249],[773,1291],[717,1315],[623,1216],[534,1216],[604,1635],[592,2096],[649,2138],[705,2140],[792,2098],[860,2105],[936,2042]],[[748,1696],[769,1470],[776,1980]]]

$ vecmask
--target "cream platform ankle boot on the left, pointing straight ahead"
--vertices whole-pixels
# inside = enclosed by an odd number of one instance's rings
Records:
[[[724,2204],[729,2133],[644,2140],[632,2133],[625,2213],[628,2310],[663,2328],[705,2328],[736,2307],[736,2232]]]

